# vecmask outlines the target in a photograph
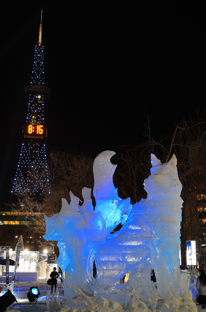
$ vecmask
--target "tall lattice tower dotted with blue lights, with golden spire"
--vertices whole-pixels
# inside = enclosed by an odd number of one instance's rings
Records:
[[[50,89],[44,82],[44,46],[41,43],[42,11],[39,42],[35,45],[34,63],[30,85],[24,88],[28,101],[23,142],[12,193],[42,195],[49,190],[46,165],[47,129],[44,124],[44,100],[49,99]],[[43,187],[44,185],[44,187]]]

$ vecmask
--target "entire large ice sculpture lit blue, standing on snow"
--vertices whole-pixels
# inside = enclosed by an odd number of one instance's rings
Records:
[[[151,175],[144,182],[147,198],[132,206],[129,198],[119,198],[114,187],[116,165],[110,162],[114,154],[102,152],[94,161],[95,209],[91,189],[83,188],[82,206],[71,193],[70,205],[63,198],[61,211],[45,217],[44,238],[58,241],[64,296],[83,292],[100,297],[102,292],[114,293],[117,289],[150,291],[155,289],[150,280],[151,268],[156,272],[158,295],[166,298],[176,291],[183,296],[186,290],[179,273],[182,185],[176,157],[162,164],[151,155]],[[123,227],[111,234],[119,223]],[[126,273],[128,282],[119,284]]]

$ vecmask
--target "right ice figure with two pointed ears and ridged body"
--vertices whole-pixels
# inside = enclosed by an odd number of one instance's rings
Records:
[[[127,287],[151,290],[151,268],[157,277],[157,292],[164,298],[170,290],[180,294],[180,220],[182,185],[173,155],[162,164],[151,155],[151,175],[145,180],[147,198],[133,205],[127,222],[98,250],[95,262],[100,286],[111,289],[129,273]],[[126,228],[125,228],[126,227]]]

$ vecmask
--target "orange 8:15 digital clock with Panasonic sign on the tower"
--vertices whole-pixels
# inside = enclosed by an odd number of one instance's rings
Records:
[[[25,124],[23,128],[23,139],[38,139],[44,141],[47,130],[44,124]]]

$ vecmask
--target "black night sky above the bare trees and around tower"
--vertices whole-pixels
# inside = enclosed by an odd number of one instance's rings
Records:
[[[70,3],[70,2],[68,2]],[[96,156],[171,134],[206,99],[205,4],[85,1],[2,8],[0,202],[8,202],[26,121],[40,11],[48,149]]]

